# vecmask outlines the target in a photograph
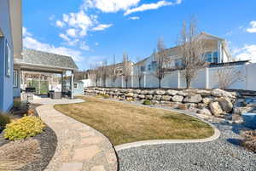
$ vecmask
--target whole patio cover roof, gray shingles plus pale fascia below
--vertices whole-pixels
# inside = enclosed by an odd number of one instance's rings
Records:
[[[21,70],[32,71],[77,71],[79,68],[72,57],[61,54],[51,54],[33,49],[23,49],[22,59],[15,59],[15,65]]]

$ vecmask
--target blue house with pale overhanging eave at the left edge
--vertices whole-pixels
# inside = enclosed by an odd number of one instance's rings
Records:
[[[22,57],[21,0],[0,1],[0,111],[13,106],[14,89],[19,83],[14,59]]]

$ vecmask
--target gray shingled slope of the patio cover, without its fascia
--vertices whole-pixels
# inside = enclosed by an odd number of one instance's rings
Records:
[[[33,49],[23,49],[23,58],[16,59],[16,64],[30,64],[38,66],[54,66],[60,68],[69,68],[78,70],[78,66],[72,57],[61,54],[51,54]]]

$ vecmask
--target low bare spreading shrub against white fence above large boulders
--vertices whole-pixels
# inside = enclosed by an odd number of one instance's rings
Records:
[[[220,67],[217,71],[218,87],[222,89],[229,88],[232,84],[241,82],[245,79],[241,70],[236,69],[234,66],[230,66],[225,63],[223,67]]]

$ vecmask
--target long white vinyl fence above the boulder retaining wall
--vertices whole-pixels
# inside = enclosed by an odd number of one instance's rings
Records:
[[[237,71],[241,71],[243,80],[240,82],[233,83],[230,85],[230,89],[245,89],[256,91],[256,64],[232,66]],[[197,76],[191,83],[192,88],[218,88],[218,70],[223,69],[224,66],[220,67],[209,67],[198,71]],[[84,80],[86,84],[84,87],[96,86],[93,80]],[[104,83],[102,80],[98,82],[98,86],[103,87]],[[106,82],[106,87],[116,87],[125,88],[124,77],[118,77],[115,83],[108,78]],[[159,81],[153,74],[145,74],[141,80],[141,88],[158,88]],[[131,76],[128,81],[128,88],[138,88],[138,78],[137,76]],[[161,88],[186,88],[186,82],[183,79],[181,71],[172,71],[166,73],[166,76],[161,81]]]

